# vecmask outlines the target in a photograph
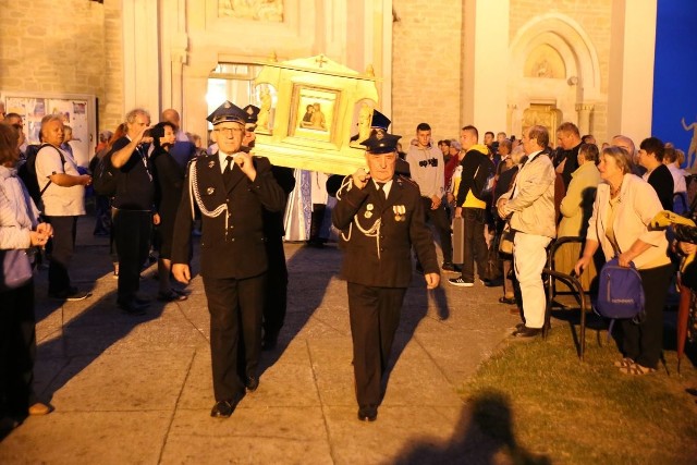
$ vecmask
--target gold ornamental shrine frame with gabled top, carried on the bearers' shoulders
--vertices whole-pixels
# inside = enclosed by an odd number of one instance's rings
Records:
[[[326,173],[351,174],[365,167],[364,150],[351,144],[351,136],[359,106],[377,106],[375,76],[322,54],[262,64],[255,85],[273,86],[278,100],[268,110],[270,124],[257,126],[254,152],[273,164]]]

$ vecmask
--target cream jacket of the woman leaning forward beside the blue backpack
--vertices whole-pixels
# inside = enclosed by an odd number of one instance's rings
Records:
[[[651,219],[662,210],[661,201],[650,184],[634,174],[625,174],[620,188],[620,203],[616,206],[613,231],[620,245],[620,252],[626,252],[639,238],[651,244],[648,250],[641,253],[633,261],[638,268],[647,265],[655,266],[670,260],[667,256],[668,241],[664,231],[649,231]],[[607,237],[607,219],[610,211],[610,185],[602,183],[598,186],[592,216],[588,221],[586,238],[600,243],[607,260],[615,256],[612,243]],[[664,260],[663,260],[664,259]]]

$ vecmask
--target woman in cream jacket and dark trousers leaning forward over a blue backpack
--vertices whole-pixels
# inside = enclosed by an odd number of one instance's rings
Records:
[[[622,267],[634,262],[641,276],[646,317],[639,325],[621,320],[624,358],[615,366],[625,375],[646,375],[656,371],[661,355],[663,306],[673,273],[665,233],[649,230],[650,220],[662,210],[661,201],[650,184],[632,174],[623,148],[604,148],[598,170],[603,183],[588,221],[584,254],[574,269],[580,274],[599,246],[607,260],[616,256]]]

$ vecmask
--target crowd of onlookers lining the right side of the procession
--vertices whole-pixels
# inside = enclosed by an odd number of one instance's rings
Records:
[[[419,140],[419,131],[413,146],[435,147]],[[555,149],[543,126],[526,129],[519,142],[504,133],[494,140],[488,132],[479,145],[478,136],[477,129],[467,125],[458,142],[437,144],[449,204],[443,212],[452,208],[452,218],[464,218],[464,236],[453,238],[464,243],[462,264],[451,262],[451,242],[441,242],[442,269],[460,274],[449,283],[474,286],[476,265],[481,283],[501,286],[499,302],[515,305],[511,311],[521,315],[512,335],[534,338],[546,325],[547,292],[552,291],[545,287],[542,270],[553,241],[574,238],[559,247],[554,268],[578,277],[587,292],[597,291],[596,276],[604,261],[617,257],[623,267],[633,262],[643,279],[646,316],[638,323],[622,320],[623,358],[615,366],[627,375],[655,371],[669,284],[681,255],[694,247],[669,244],[667,231],[652,229],[651,220],[663,210],[693,213],[689,173],[681,169],[684,152],[657,137],[643,139],[636,150],[623,135],[598,147],[592,135],[582,137],[571,122],[557,129]],[[424,163],[419,154],[406,155],[413,169],[436,164]],[[436,203],[430,207],[441,208]],[[498,249],[508,234],[504,227],[514,233],[512,256]]]

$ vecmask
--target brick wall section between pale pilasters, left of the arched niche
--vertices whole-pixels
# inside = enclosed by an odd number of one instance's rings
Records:
[[[408,144],[427,122],[433,139],[460,138],[461,0],[394,0],[392,131]]]

